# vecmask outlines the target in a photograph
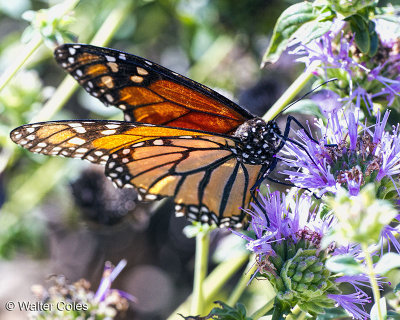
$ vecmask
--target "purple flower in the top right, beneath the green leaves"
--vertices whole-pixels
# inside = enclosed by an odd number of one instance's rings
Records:
[[[376,32],[380,38],[378,53],[373,58],[363,55],[356,47],[354,37],[349,33],[347,24],[336,20],[330,31],[309,43],[293,42],[296,48],[291,54],[300,55],[298,62],[308,67],[319,62],[324,71],[319,74],[324,79],[336,77],[342,82],[337,93],[342,95],[339,102],[346,105],[365,106],[373,113],[373,100],[385,97],[387,106],[400,95],[400,38],[393,23],[377,19]],[[389,30],[389,31],[388,31]],[[343,88],[348,88],[348,92]],[[344,94],[344,95],[343,95]],[[320,104],[323,111],[325,106]]]

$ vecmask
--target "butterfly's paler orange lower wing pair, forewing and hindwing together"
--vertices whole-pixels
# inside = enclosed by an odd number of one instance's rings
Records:
[[[14,129],[11,139],[36,153],[105,164],[117,187],[145,200],[172,196],[190,220],[240,226],[263,165],[246,165],[238,141],[223,135],[123,121],[51,121]]]

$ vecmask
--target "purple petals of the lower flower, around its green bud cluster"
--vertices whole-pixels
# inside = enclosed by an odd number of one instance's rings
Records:
[[[262,274],[268,272],[275,274],[275,277],[282,274],[274,267],[273,261],[276,261],[278,256],[286,256],[282,254],[279,244],[285,243],[285,248],[288,251],[296,248],[298,251],[316,249],[316,257],[320,259],[323,254],[323,249],[320,247],[320,241],[324,234],[327,233],[329,228],[332,228],[336,223],[333,216],[327,219],[320,218],[319,208],[313,204],[310,196],[302,194],[301,196],[285,196],[280,192],[268,193],[266,197],[261,198],[262,208],[252,204],[253,209],[246,212],[251,215],[252,221],[250,229],[254,232],[254,237],[233,231],[247,241],[247,249],[257,255],[258,271]],[[268,224],[266,216],[268,216],[270,223]],[[299,244],[302,243],[301,246]],[[299,249],[299,248],[302,249]],[[281,248],[281,247],[280,247]],[[331,255],[342,254],[348,252],[350,247],[338,247],[325,249]],[[360,250],[351,246],[352,253],[357,256]],[[286,263],[286,262],[282,262]],[[323,263],[320,262],[322,265]],[[279,265],[279,264],[278,264]],[[285,264],[284,264],[285,266]],[[285,270],[285,267],[282,270]],[[287,269],[287,268],[286,268]],[[313,267],[313,270],[318,268]],[[325,274],[326,275],[326,274]],[[310,277],[308,275],[308,277]],[[294,281],[292,277],[291,281]],[[353,284],[354,292],[344,294],[342,292],[330,293],[325,292],[322,294],[328,300],[333,300],[338,306],[347,310],[355,319],[365,319],[368,313],[364,310],[363,306],[371,302],[368,295],[361,289],[361,286],[368,287],[368,278],[364,275],[354,276],[338,276],[330,273],[326,279],[321,278],[321,282],[328,280],[332,281],[336,286],[340,283],[346,282]],[[317,285],[316,288],[320,288]],[[319,289],[318,289],[319,290]],[[304,291],[303,291],[304,292]]]

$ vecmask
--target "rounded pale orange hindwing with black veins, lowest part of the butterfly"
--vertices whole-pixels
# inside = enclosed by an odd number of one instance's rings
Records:
[[[233,141],[215,136],[165,137],[135,143],[110,157],[106,175],[136,187],[144,200],[173,197],[190,220],[238,227],[261,165],[246,166]]]

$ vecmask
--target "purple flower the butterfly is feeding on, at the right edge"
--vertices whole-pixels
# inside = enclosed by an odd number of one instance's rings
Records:
[[[359,122],[358,112],[332,113],[326,126],[317,123],[317,142],[303,130],[297,131],[302,147],[286,142],[279,158],[293,169],[282,173],[297,187],[319,196],[335,194],[340,186],[357,195],[367,182],[385,179],[397,188],[393,176],[400,173],[400,134],[398,128],[392,133],[384,130],[388,116],[386,112],[381,120],[378,115],[375,125],[368,128]]]

